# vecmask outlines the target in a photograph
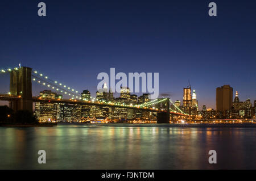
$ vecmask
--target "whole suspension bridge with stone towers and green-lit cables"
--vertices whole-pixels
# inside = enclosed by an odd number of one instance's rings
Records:
[[[10,74],[10,92],[8,94],[0,94],[0,100],[9,101],[10,108],[14,111],[28,110],[32,112],[33,102],[40,103],[63,103],[63,104],[79,104],[89,106],[108,106],[127,108],[131,110],[142,110],[146,112],[157,112],[158,123],[169,123],[174,116],[189,117],[187,113],[180,110],[179,107],[175,107],[175,110],[170,108],[170,104],[173,104],[170,98],[158,98],[150,100],[143,104],[125,104],[115,103],[105,100],[86,100],[82,99],[79,91],[54,81],[48,76],[39,73],[39,71],[33,71],[31,68],[20,66],[14,69],[2,69],[1,74]],[[69,99],[57,98],[49,99],[42,98],[40,96],[32,95],[32,81],[42,86],[46,86],[48,89],[55,90],[69,97]],[[154,107],[152,107],[154,105]],[[175,104],[173,104],[175,106]]]

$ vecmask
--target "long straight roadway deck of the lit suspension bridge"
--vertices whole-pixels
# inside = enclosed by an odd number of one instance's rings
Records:
[[[9,94],[0,94],[0,100],[10,101],[10,100],[19,100],[22,99],[21,96],[14,96]],[[72,100],[72,99],[43,99],[37,96],[32,97],[33,102],[41,102],[41,103],[63,103],[63,104],[80,104],[80,105],[89,105],[89,106],[108,106],[108,107],[119,107],[119,108],[129,108],[133,110],[142,110],[142,111],[150,111],[150,112],[166,112],[161,110],[156,110],[153,108],[139,108],[132,106],[122,106],[116,104],[108,104],[103,102],[92,102],[92,101],[84,101],[84,100]],[[183,115],[177,112],[170,112],[172,115]]]

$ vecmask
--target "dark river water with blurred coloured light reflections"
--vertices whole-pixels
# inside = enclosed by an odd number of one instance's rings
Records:
[[[0,169],[256,169],[255,128],[0,128]],[[217,151],[217,164],[208,151]],[[46,150],[47,163],[38,163]]]

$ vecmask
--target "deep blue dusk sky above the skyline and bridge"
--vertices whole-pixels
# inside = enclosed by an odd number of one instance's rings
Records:
[[[93,95],[97,74],[110,68],[159,72],[160,93],[182,100],[189,79],[200,109],[215,107],[224,84],[256,99],[255,1],[1,0],[0,23],[0,68],[21,62]]]

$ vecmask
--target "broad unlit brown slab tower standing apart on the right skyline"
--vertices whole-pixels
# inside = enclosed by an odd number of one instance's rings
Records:
[[[226,115],[226,110],[230,110],[233,105],[233,88],[229,85],[217,87],[216,89],[216,110]]]

